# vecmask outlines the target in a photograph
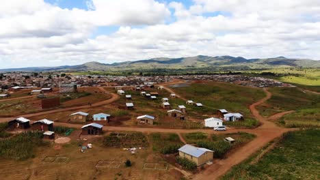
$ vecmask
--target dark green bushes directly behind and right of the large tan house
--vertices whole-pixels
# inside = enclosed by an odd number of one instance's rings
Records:
[[[216,142],[201,140],[197,142],[197,146],[215,151],[214,156],[219,158],[224,157],[226,152],[231,149],[231,145],[229,144],[229,142],[226,142],[224,140],[218,140]]]

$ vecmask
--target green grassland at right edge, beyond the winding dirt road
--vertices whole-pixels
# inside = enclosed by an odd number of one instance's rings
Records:
[[[258,106],[261,115],[269,117],[277,112],[295,110],[279,122],[286,127],[320,127],[320,95],[295,87],[275,87],[269,91],[271,98]]]

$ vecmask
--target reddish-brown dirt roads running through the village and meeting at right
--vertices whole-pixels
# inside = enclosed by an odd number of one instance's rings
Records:
[[[177,82],[174,82],[177,83]],[[166,83],[165,84],[165,89],[169,91],[170,93],[174,93],[172,89],[168,87],[168,85],[172,85],[174,83]],[[101,88],[103,89],[103,88]],[[258,151],[259,149],[265,147],[268,142],[271,142],[275,138],[280,137],[284,132],[288,132],[290,130],[295,130],[295,129],[287,129],[287,128],[282,128],[277,126],[275,123],[271,122],[275,121],[276,119],[279,119],[283,115],[287,113],[291,113],[293,111],[288,111],[288,112],[281,112],[276,115],[272,115],[271,117],[265,118],[260,115],[258,110],[256,110],[256,106],[262,104],[263,102],[269,100],[271,97],[271,93],[267,89],[263,89],[266,93],[266,97],[263,99],[259,100],[258,102],[255,102],[252,104],[249,108],[250,111],[252,112],[252,115],[258,121],[261,122],[261,126],[257,127],[256,129],[228,129],[226,132],[214,132],[213,130],[202,130],[202,129],[193,129],[193,130],[184,130],[184,129],[165,129],[165,128],[148,128],[148,127],[118,127],[118,126],[104,126],[104,130],[107,131],[135,131],[135,132],[172,132],[172,133],[188,133],[188,132],[205,132],[209,134],[214,134],[214,133],[232,133],[232,132],[248,132],[251,134],[255,134],[256,138],[252,140],[251,142],[248,142],[248,144],[244,145],[243,147],[239,147],[236,149],[236,151],[232,151],[228,153],[225,159],[222,160],[214,160],[213,164],[200,172],[197,175],[194,175],[192,177],[193,179],[218,179],[220,176],[224,175],[232,166],[235,166],[236,164],[239,164],[246,158],[250,157],[253,153]],[[97,106],[103,106],[105,104],[110,104],[111,102],[114,102],[118,100],[119,96],[116,95],[115,93],[111,93],[112,97],[109,100],[105,100],[102,102],[98,102],[96,104],[92,104],[92,107],[97,107]],[[185,98],[181,97],[181,99],[185,100]],[[81,108],[88,108],[88,106],[78,106],[78,107],[72,107],[72,108],[64,108],[64,109],[57,109],[57,110],[49,110],[45,112],[37,112],[29,115],[21,115],[21,117],[34,117],[38,115],[47,115],[47,114],[52,114],[55,112],[62,112],[64,110],[77,110]],[[8,117],[8,118],[0,118],[0,121],[10,121],[14,119],[15,117]],[[67,127],[76,127],[76,128],[81,128],[82,125],[79,124],[70,124],[70,123],[55,123],[55,125],[63,125]],[[181,136],[180,136],[181,137]],[[182,137],[181,137],[182,138]],[[182,138],[183,140],[183,138]],[[184,141],[184,140],[183,140]]]

